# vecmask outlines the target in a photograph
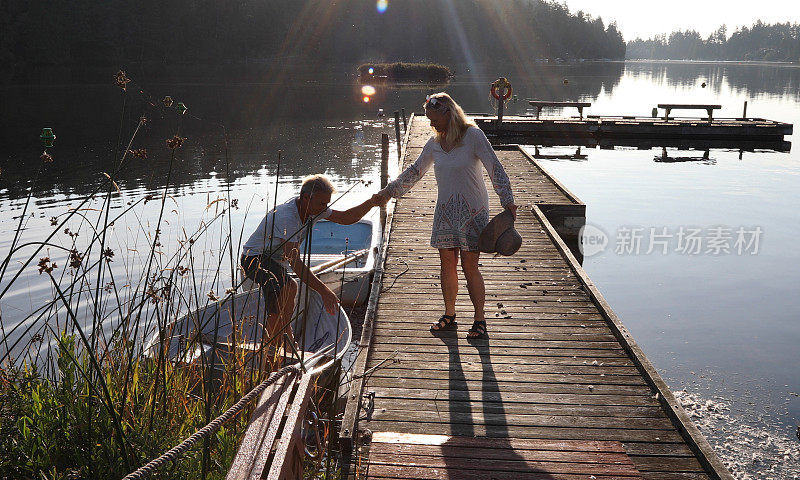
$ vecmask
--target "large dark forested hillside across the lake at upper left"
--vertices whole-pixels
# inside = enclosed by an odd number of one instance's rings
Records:
[[[35,66],[275,61],[353,64],[622,59],[615,24],[544,0],[5,1],[0,63]]]

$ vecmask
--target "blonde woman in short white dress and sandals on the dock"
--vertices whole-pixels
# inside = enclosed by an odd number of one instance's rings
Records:
[[[445,312],[430,327],[431,332],[456,328],[458,260],[467,280],[467,290],[475,316],[468,339],[487,337],[484,303],[486,291],[478,269],[478,237],[489,223],[489,194],[481,165],[489,173],[500,203],[516,218],[517,206],[503,165],[483,131],[464,115],[461,107],[446,93],[430,95],[425,115],[434,136],[419,158],[380,195],[400,197],[419,181],[431,165],[436,174],[438,200],[433,215],[431,246],[439,250],[441,286]]]

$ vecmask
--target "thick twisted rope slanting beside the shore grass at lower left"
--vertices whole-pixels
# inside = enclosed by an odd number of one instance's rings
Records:
[[[187,438],[180,444],[172,447],[170,450],[168,450],[160,457],[151,461],[147,465],[139,468],[135,472],[128,474],[123,480],[142,480],[148,478],[168,462],[173,462],[177,460],[190,448],[195,446],[197,442],[211,435],[212,433],[215,433],[225,422],[227,422],[228,420],[232,419],[233,417],[241,413],[244,407],[248,403],[253,401],[253,399],[261,395],[261,393],[264,390],[266,390],[267,387],[269,387],[270,385],[277,382],[279,379],[281,379],[282,377],[286,376],[288,373],[293,371],[299,372],[300,366],[298,364],[287,365],[281,368],[280,370],[274,372],[272,375],[269,376],[269,378],[261,382],[260,385],[250,390],[245,396],[240,398],[239,401],[236,402],[231,408],[226,410],[225,413],[212,420],[205,427],[196,431],[194,434],[192,434],[189,438]]]

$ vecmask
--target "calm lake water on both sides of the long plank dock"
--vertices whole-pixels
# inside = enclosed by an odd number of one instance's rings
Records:
[[[113,85],[113,72],[0,87],[2,257],[29,189],[23,243],[46,237],[55,228],[52,217],[63,218],[101,184],[102,172],[117,170],[118,145],[130,141],[141,115],[148,120],[131,145],[146,148],[148,158],[131,159],[115,176],[119,192],[113,194],[112,215],[128,202],[160,195],[169,181],[161,231],[165,255],[178,249],[184,231],[195,231],[220,213],[226,202],[215,200],[226,189],[238,200],[238,208],[230,210],[233,243],[242,235],[246,239],[260,212],[275,201],[279,151],[278,201],[312,172],[331,175],[340,191],[352,187],[338,206],[362,201],[376,189],[380,136],[394,137],[394,110],[419,110],[426,93],[444,89],[465,110],[486,112],[488,84],[499,75],[514,84],[512,114],[531,113],[524,100],[538,98],[590,101],[585,113],[610,115],[649,115],[657,103],[711,103],[723,106],[716,117],[735,117],[748,101],[749,116],[800,120],[800,68],[786,65],[608,62],[534,64],[513,71],[465,66],[448,86],[378,86],[368,103],[350,72],[317,77],[278,70],[213,76],[131,72],[127,97]],[[165,95],[185,103],[188,112],[181,116],[164,108]],[[386,117],[377,116],[379,108]],[[57,136],[52,163],[39,159],[43,127]],[[176,132],[187,140],[170,162],[164,141]],[[794,136],[787,140],[794,142]],[[661,148],[584,146],[585,157],[568,158],[575,150],[542,147],[539,153],[562,156],[541,162],[586,203],[587,224],[608,242],[603,251],[585,256],[590,277],[737,476],[800,474],[797,149],[720,148],[705,154],[670,147],[666,156],[672,161],[660,161]],[[362,180],[373,183],[359,184]],[[103,198],[83,205],[87,217],[96,221]],[[117,254],[111,265],[121,278],[141,276],[139,252],[152,241],[148,235],[160,206],[160,201],[138,204],[135,215],[115,223],[110,245]],[[202,292],[224,291],[231,282],[227,267],[215,276],[224,229],[212,225],[214,231],[195,245]],[[678,243],[689,231],[703,242],[699,252]],[[736,242],[740,231],[744,244]],[[637,237],[638,247],[629,241]],[[63,232],[54,239],[67,245],[71,240]],[[27,258],[32,247],[26,248],[14,259]],[[63,266],[64,254],[54,248],[49,254]],[[0,299],[6,335],[0,353],[10,348],[9,340],[21,338],[24,344],[43,331],[26,320],[53,295],[49,279],[34,265]],[[0,290],[18,269],[12,261]],[[17,325],[24,328],[9,332]]]

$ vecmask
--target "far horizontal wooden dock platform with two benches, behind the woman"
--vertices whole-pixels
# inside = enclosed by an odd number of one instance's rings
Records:
[[[782,141],[791,135],[790,123],[764,118],[679,118],[641,116],[542,117],[496,116],[473,117],[487,135],[504,138],[592,138],[608,139],[681,139]]]

